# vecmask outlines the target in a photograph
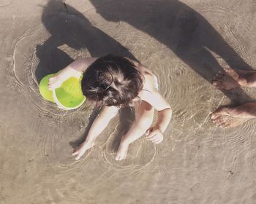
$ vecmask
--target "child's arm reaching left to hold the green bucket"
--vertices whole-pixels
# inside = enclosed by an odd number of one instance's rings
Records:
[[[56,76],[50,77],[48,82],[49,90],[56,89],[61,86],[62,82],[69,79],[71,76],[79,77],[81,72],[86,71],[91,63],[97,58],[81,58],[70,63],[67,67],[62,69]]]

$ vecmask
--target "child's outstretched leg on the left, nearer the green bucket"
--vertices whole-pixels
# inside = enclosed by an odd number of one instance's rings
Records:
[[[116,106],[103,106],[99,115],[92,123],[86,140],[74,149],[72,155],[76,155],[75,160],[79,160],[80,157],[93,146],[94,140],[99,136],[100,133],[107,127],[110,120],[118,113],[118,107]]]

